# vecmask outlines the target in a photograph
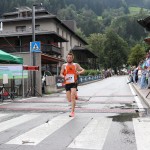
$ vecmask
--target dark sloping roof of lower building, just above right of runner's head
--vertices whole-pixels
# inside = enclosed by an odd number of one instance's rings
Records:
[[[88,58],[98,58],[93,52],[88,50],[87,48],[75,46],[73,49],[71,49],[73,52],[83,52],[86,53]]]

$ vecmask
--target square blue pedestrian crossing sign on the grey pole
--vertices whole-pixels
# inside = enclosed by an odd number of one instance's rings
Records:
[[[41,52],[41,42],[30,42],[30,52],[40,53]]]

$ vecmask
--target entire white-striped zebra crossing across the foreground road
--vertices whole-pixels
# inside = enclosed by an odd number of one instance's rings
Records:
[[[150,148],[149,117],[133,117],[130,125],[129,121],[124,121],[125,129],[119,129],[117,126],[122,123],[114,121],[113,117],[116,115],[105,117],[100,114],[78,113],[75,118],[70,118],[68,113],[13,113],[0,112],[0,150],[3,146],[9,150],[10,145],[20,146],[20,150],[25,146],[28,146],[28,150],[33,149],[32,146],[41,147],[41,150],[108,150],[107,145],[110,141],[113,143],[122,130],[132,130],[130,126],[133,127],[132,138],[135,138],[135,142],[132,143],[133,149]],[[125,138],[127,140],[126,135]],[[47,148],[45,145],[48,144]],[[110,150],[113,150],[111,148]]]

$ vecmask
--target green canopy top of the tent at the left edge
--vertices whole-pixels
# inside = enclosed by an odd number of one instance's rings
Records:
[[[23,64],[23,58],[0,50],[0,63],[1,64]]]

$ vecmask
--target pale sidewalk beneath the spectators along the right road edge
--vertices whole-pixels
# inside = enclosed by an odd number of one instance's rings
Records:
[[[140,89],[139,85],[134,83],[131,83],[131,85],[148,107],[150,107],[150,89]]]

